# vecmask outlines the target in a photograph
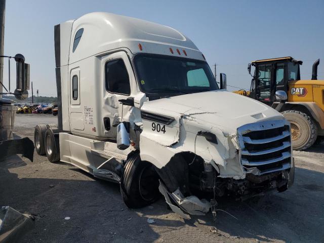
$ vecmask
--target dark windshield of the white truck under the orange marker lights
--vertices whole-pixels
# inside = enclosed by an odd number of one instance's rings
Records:
[[[189,94],[217,90],[207,62],[187,58],[136,55],[140,89],[147,94]]]

